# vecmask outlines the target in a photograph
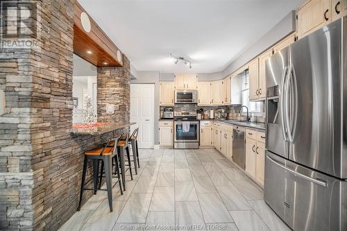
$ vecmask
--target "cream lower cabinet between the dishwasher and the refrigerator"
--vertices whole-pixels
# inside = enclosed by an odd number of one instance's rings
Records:
[[[265,133],[246,129],[246,173],[264,185]]]

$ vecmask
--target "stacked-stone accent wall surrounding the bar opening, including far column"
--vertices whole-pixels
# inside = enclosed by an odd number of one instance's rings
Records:
[[[41,50],[0,50],[0,89],[6,91],[6,112],[0,115],[0,230],[58,230],[77,210],[84,151],[110,137],[70,134],[74,0],[38,2]],[[124,68],[103,69],[98,91],[119,108],[107,118],[98,112],[101,121],[129,120],[129,73],[126,57]],[[103,100],[98,104],[104,108]],[[83,196],[84,203],[92,191]]]

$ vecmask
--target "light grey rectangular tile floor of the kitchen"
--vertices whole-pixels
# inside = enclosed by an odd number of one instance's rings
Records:
[[[60,230],[290,230],[262,190],[214,149],[139,150],[127,189],[98,193]]]

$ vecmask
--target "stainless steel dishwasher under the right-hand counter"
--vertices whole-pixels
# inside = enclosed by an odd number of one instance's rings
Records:
[[[246,168],[244,131],[244,127],[234,126],[232,128],[232,161],[242,169]]]

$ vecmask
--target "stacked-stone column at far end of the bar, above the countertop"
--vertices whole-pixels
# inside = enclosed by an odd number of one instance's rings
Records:
[[[124,67],[98,67],[97,99],[99,122],[130,120],[130,62],[123,55]],[[115,113],[106,114],[106,105],[112,104]]]

